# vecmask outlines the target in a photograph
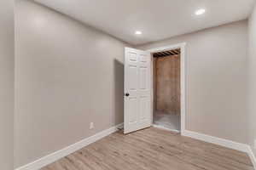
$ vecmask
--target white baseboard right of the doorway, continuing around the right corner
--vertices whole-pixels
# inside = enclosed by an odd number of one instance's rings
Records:
[[[228,139],[220,139],[220,138],[213,137],[203,133],[195,133],[189,130],[184,130],[182,135],[193,138],[193,139],[198,139],[204,142],[208,142],[211,144],[218,144],[226,148],[230,148],[232,150],[239,150],[242,152],[246,152],[248,156],[251,158],[251,161],[253,162],[253,167],[256,170],[256,158],[253,154],[253,150],[251,146],[249,146],[248,144],[241,144]]]

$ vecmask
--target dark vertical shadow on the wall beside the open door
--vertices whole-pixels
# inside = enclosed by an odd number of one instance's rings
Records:
[[[114,68],[114,123],[124,122],[124,64],[113,60]]]

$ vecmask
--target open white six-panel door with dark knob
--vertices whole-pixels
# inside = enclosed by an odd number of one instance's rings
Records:
[[[152,124],[151,56],[149,52],[125,48],[125,125],[131,133]]]

